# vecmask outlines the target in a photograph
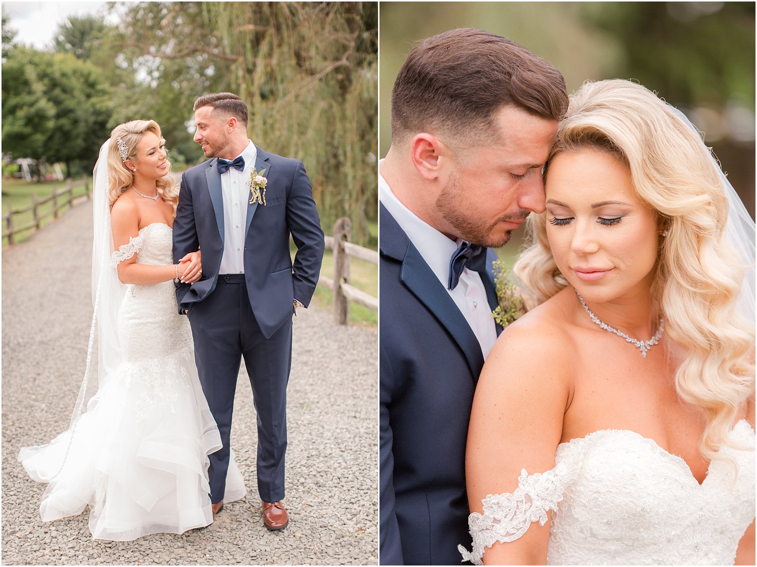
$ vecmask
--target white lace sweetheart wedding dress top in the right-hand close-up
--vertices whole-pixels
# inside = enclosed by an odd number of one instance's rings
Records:
[[[523,470],[513,494],[489,495],[472,513],[473,550],[521,537],[547,521],[547,565],[733,565],[755,518],[755,432],[746,420],[730,433],[700,485],[687,463],[633,431],[606,429],[557,447],[555,467]],[[731,466],[733,465],[733,466]],[[734,478],[734,472],[737,472]]]

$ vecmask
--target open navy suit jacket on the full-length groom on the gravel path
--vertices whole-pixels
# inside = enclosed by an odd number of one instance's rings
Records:
[[[173,222],[173,258],[202,251],[198,282],[176,286],[179,313],[202,301],[216,287],[223,254],[223,195],[217,159],[182,174],[179,207]],[[323,231],[310,179],[299,160],[257,148],[255,168],[266,170],[266,204],[248,204],[245,229],[245,280],[250,306],[266,338],[291,318],[292,300],[310,303],[323,258]],[[289,254],[291,234],[298,251]]]

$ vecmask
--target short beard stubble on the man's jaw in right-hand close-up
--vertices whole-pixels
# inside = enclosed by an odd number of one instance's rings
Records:
[[[494,232],[494,229],[503,220],[521,222],[528,217],[531,211],[519,209],[516,213],[507,213],[497,218],[492,223],[483,220],[483,214],[478,208],[475,210],[469,203],[469,196],[463,192],[461,184],[456,174],[450,176],[447,185],[444,185],[441,193],[436,199],[436,209],[441,213],[442,218],[450,223],[456,231],[456,236],[469,241],[472,244],[484,245],[490,248],[500,248],[507,244],[512,236],[512,230],[506,230],[500,233]],[[484,207],[486,204],[484,203]],[[485,210],[485,208],[484,208]]]

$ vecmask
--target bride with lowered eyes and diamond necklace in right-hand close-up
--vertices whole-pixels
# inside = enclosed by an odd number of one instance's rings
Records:
[[[572,96],[544,179],[515,268],[531,310],[475,392],[463,557],[754,565],[754,222],[628,81]]]

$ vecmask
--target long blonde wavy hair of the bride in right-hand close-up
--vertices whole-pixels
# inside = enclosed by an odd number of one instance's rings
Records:
[[[564,151],[599,148],[631,171],[637,197],[668,232],[661,237],[652,298],[665,334],[686,353],[675,372],[682,400],[702,408],[699,452],[718,458],[754,391],[755,330],[737,312],[744,267],[724,238],[728,201],[720,170],[698,132],[665,101],[621,79],[587,82],[571,96],[544,169]],[[531,214],[527,248],[514,267],[528,308],[566,285],[547,241],[546,213]]]

